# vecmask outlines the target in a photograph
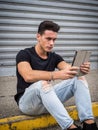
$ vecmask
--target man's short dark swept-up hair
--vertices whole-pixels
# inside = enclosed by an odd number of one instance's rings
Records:
[[[38,28],[38,33],[43,34],[45,30],[52,30],[54,32],[58,32],[60,26],[52,21],[43,21],[40,23]]]

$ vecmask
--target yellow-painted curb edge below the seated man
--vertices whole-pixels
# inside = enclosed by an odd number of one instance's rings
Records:
[[[94,116],[98,117],[98,102],[93,103],[92,107]],[[78,120],[75,106],[70,106],[66,109],[74,120]],[[49,114],[37,117],[21,115],[0,119],[0,130],[38,130],[56,124],[56,120]]]

